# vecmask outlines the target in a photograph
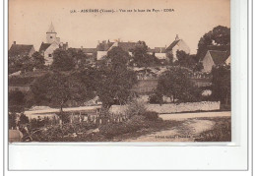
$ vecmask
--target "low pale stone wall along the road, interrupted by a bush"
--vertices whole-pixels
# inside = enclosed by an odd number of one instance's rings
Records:
[[[193,112],[193,111],[211,111],[220,110],[220,101],[202,101],[202,102],[184,102],[171,104],[147,104],[147,109],[156,111],[160,114],[170,114],[176,112]],[[113,105],[110,108],[112,113],[123,113],[126,106]]]

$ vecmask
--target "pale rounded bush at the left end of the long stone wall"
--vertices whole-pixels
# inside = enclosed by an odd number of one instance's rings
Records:
[[[127,104],[125,114],[128,118],[131,118],[135,115],[143,115],[147,111],[146,104],[140,100],[132,100]]]

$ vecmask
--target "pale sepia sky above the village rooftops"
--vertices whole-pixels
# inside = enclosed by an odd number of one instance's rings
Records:
[[[83,9],[115,12],[78,12]],[[77,13],[71,13],[74,10]],[[178,34],[195,54],[206,32],[217,26],[230,28],[230,0],[9,0],[9,47],[16,41],[33,44],[38,50],[41,42],[46,42],[51,23],[69,47],[93,48],[98,41],[118,38],[144,40],[151,48],[164,47]]]

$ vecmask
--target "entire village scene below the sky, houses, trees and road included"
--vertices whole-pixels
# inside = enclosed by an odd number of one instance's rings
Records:
[[[230,29],[206,31],[197,54],[176,33],[154,48],[45,34],[8,52],[10,142],[230,141]]]

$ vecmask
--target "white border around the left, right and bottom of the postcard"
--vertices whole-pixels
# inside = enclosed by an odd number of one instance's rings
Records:
[[[5,4],[5,6],[7,3]],[[247,5],[231,1],[232,128],[236,147],[10,146],[10,169],[243,170],[247,169]],[[7,7],[5,7],[7,9]],[[5,31],[7,11],[5,10]],[[233,19],[236,19],[235,21]],[[233,44],[234,43],[234,44]],[[8,46],[5,40],[5,46]],[[6,54],[6,52],[5,52]],[[5,55],[5,58],[7,56]],[[7,62],[5,62],[7,68]],[[5,70],[7,75],[7,70]],[[235,76],[235,77],[234,77]],[[7,90],[7,80],[5,80]],[[5,92],[5,104],[7,93]],[[234,99],[235,98],[235,99]],[[7,113],[7,107],[5,106]],[[7,114],[5,114],[6,117]],[[243,117],[242,120],[241,117]],[[7,121],[5,121],[7,129]],[[237,130],[240,129],[240,130]],[[239,132],[240,131],[240,132]],[[232,134],[233,135],[233,134]],[[237,140],[238,139],[238,140]],[[239,140],[240,139],[240,140]],[[5,133],[5,148],[7,148]],[[84,144],[83,144],[84,145]],[[92,145],[92,144],[88,144]],[[96,144],[94,144],[96,145]],[[104,144],[107,145],[107,144]],[[113,145],[113,144],[110,144]],[[129,144],[134,145],[134,144]],[[199,144],[198,144],[199,145]],[[223,144],[224,145],[224,144]],[[145,146],[145,145],[143,145]],[[7,161],[7,153],[5,159]],[[222,156],[222,158],[220,158]],[[6,164],[8,164],[6,162]],[[7,165],[5,165],[5,168]]]

